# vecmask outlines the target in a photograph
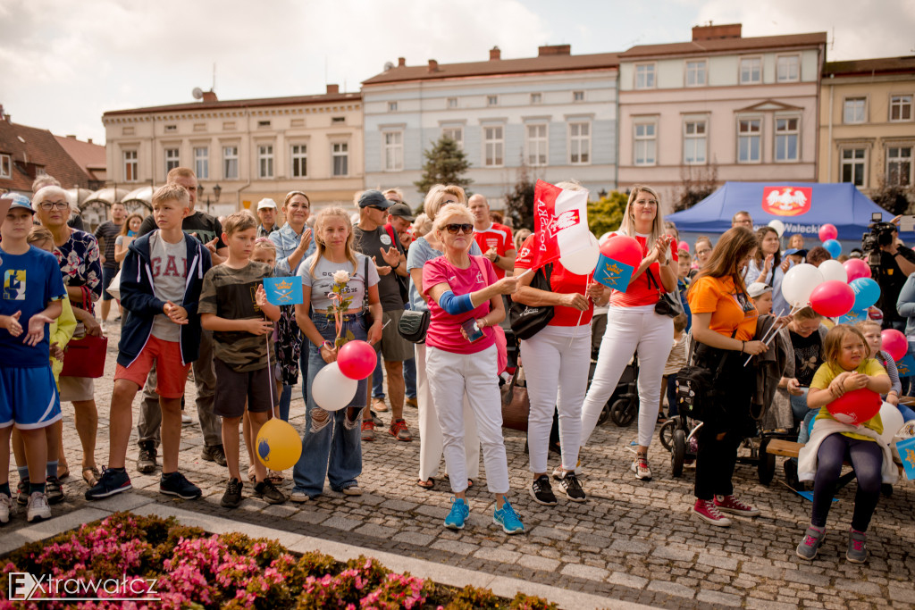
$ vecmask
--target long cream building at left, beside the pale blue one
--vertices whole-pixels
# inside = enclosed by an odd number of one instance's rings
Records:
[[[282,205],[290,190],[307,192],[316,208],[349,202],[364,182],[361,94],[337,85],[226,102],[207,91],[200,102],[105,112],[102,123],[109,183],[159,186],[172,167],[192,167],[199,207],[209,200],[213,214],[253,209],[264,197]]]

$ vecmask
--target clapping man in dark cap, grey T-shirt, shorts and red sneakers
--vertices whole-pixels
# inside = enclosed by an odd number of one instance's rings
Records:
[[[388,432],[398,441],[412,441],[404,422],[404,360],[413,358],[413,344],[397,332],[397,323],[404,315],[404,298],[397,276],[404,280],[408,277],[406,254],[400,240],[392,239],[384,226],[393,202],[384,198],[379,190],[365,191],[358,201],[359,226],[353,229],[353,245],[371,258],[380,278],[378,296],[382,302],[384,325],[381,352],[392,415]],[[371,412],[367,412],[362,419],[362,440],[373,438],[374,423]]]

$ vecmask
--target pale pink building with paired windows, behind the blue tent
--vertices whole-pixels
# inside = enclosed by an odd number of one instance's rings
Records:
[[[619,187],[816,181],[826,34],[741,37],[740,24],[619,54]]]

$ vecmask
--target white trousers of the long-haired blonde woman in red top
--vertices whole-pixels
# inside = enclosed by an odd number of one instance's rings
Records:
[[[594,432],[600,411],[636,350],[639,352],[639,444],[644,447],[651,444],[661,406],[664,363],[672,346],[673,318],[655,314],[654,305],[610,307],[597,369],[582,407],[582,446]]]

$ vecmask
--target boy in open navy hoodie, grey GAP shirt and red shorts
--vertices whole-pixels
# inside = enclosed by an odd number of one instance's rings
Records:
[[[130,244],[121,271],[121,304],[128,312],[111,403],[108,467],[86,499],[108,498],[130,489],[124,462],[133,426],[132,404],[153,363],[156,393],[162,409],[162,477],[159,491],[178,498],[200,497],[200,489],[178,472],[181,443],[181,396],[191,362],[197,359],[200,318],[197,313],[210,251],[181,230],[190,213],[190,196],[178,184],[153,194],[158,230]]]

